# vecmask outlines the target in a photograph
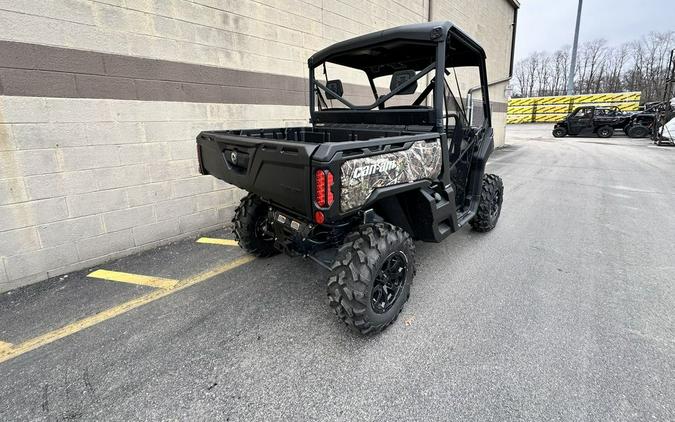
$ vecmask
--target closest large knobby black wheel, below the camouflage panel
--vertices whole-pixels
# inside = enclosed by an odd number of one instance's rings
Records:
[[[391,325],[410,296],[415,245],[387,223],[367,224],[347,235],[328,276],[328,303],[361,334]]]

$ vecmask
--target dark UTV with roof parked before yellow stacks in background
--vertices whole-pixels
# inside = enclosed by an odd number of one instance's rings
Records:
[[[596,134],[600,138],[609,138],[617,129],[631,136],[631,113],[624,113],[618,107],[583,106],[577,107],[564,120],[553,127],[553,136],[562,138],[567,135],[589,136]],[[637,123],[636,123],[637,124]],[[636,131],[633,137],[645,137]]]

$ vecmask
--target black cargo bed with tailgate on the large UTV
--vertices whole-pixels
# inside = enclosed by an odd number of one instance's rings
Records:
[[[347,158],[405,149],[437,138],[424,128],[399,126],[293,127],[202,132],[200,171],[253,192],[311,220],[311,174],[317,163],[336,169]]]

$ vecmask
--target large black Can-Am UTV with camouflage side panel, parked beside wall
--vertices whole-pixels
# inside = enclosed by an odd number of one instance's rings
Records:
[[[243,249],[312,258],[338,317],[379,332],[410,295],[413,239],[497,224],[485,53],[450,22],[401,26],[314,54],[309,92],[311,126],[202,132],[201,172],[249,192],[233,220]]]

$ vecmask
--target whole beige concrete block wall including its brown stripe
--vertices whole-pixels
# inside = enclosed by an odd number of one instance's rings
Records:
[[[432,18],[492,42],[510,4]],[[243,193],[198,175],[196,135],[305,124],[309,55],[428,19],[428,0],[0,0],[0,291],[223,227]]]

